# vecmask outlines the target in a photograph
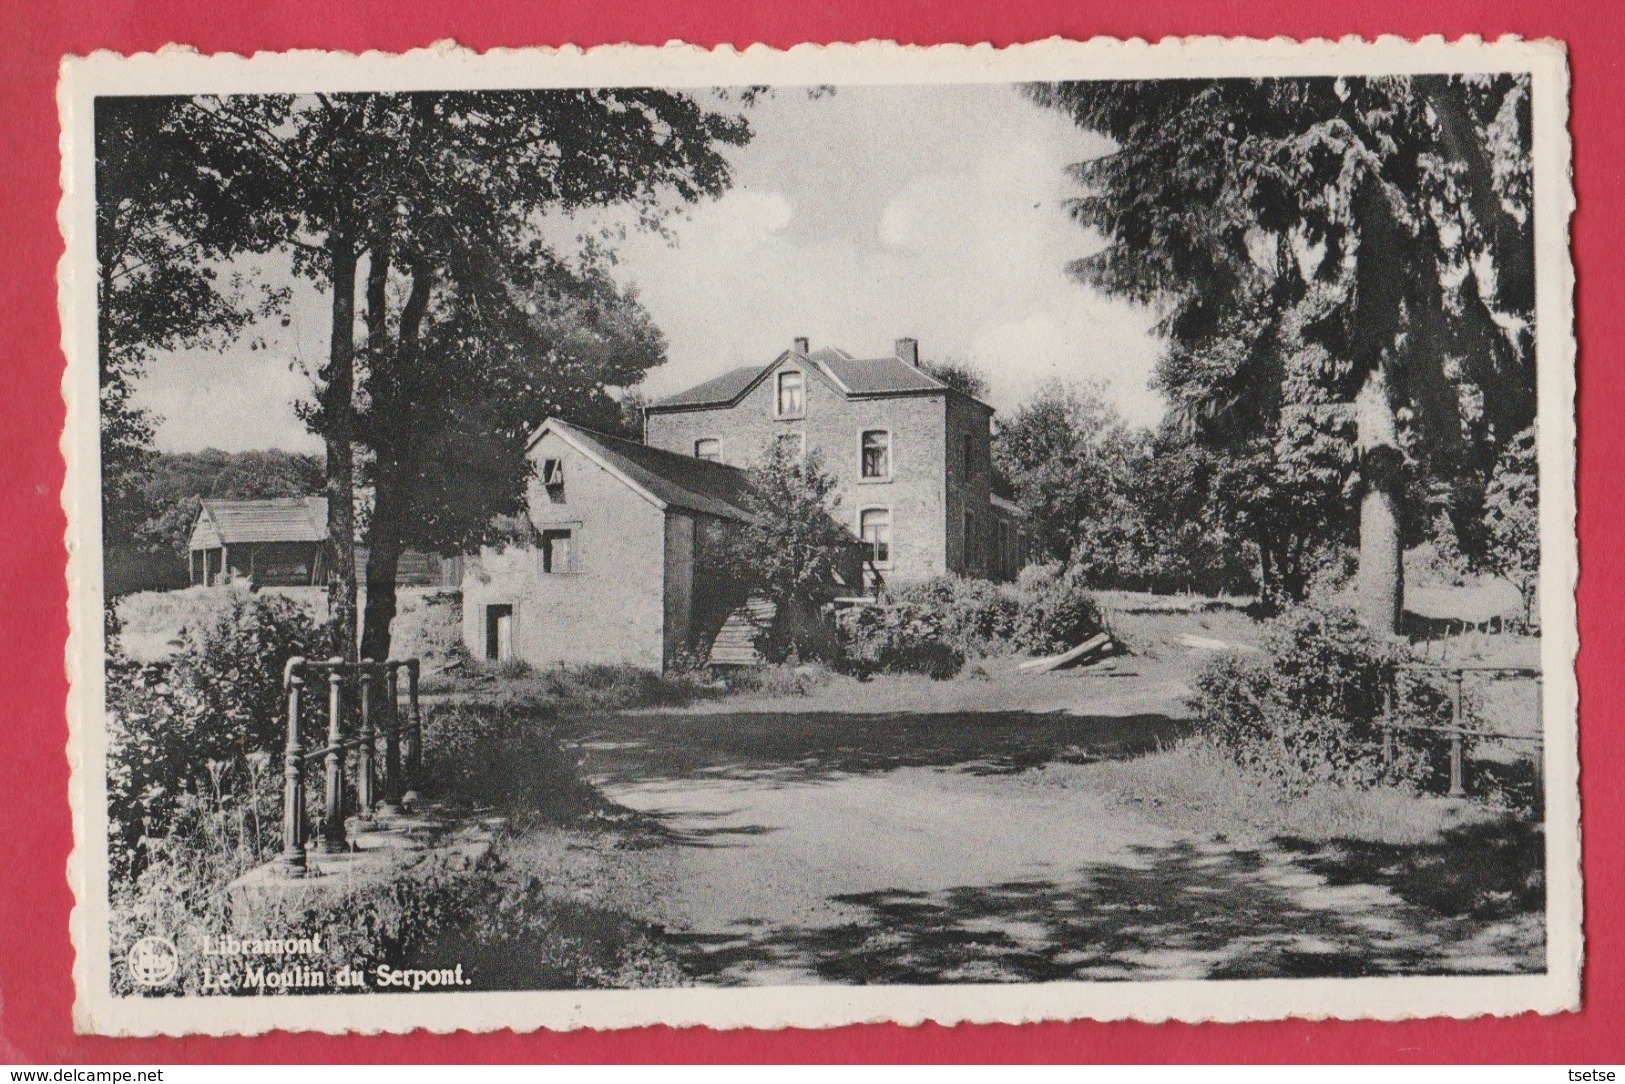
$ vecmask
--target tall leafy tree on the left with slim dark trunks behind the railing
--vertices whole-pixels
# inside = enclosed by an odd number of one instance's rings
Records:
[[[421,486],[468,492],[427,478],[436,465],[468,478],[458,463],[427,458],[431,445],[439,440],[442,455],[476,449],[483,436],[505,450],[522,439],[497,403],[471,398],[491,388],[466,379],[470,369],[514,348],[533,351],[528,379],[515,387],[509,369],[496,384],[533,392],[535,405],[652,364],[645,328],[600,374],[572,369],[603,354],[559,346],[557,317],[618,314],[582,336],[604,341],[619,336],[616,325],[635,325],[637,310],[626,297],[608,299],[601,273],[566,267],[541,242],[538,216],[614,203],[656,226],[671,202],[720,193],[728,184],[720,146],[749,137],[738,115],[645,88],[195,98],[161,124],[200,187],[254,208],[234,223],[228,250],[288,252],[296,273],[330,294],[328,353],[304,416],[327,444],[333,540],[356,536],[356,463],[366,452],[379,561],[369,582],[380,588],[369,590],[369,653],[388,647],[387,566],[410,509],[426,507]],[[437,398],[414,400],[419,392]],[[450,546],[460,535],[453,527],[434,541]],[[335,548],[332,567],[335,647],[353,653],[349,546]]]

